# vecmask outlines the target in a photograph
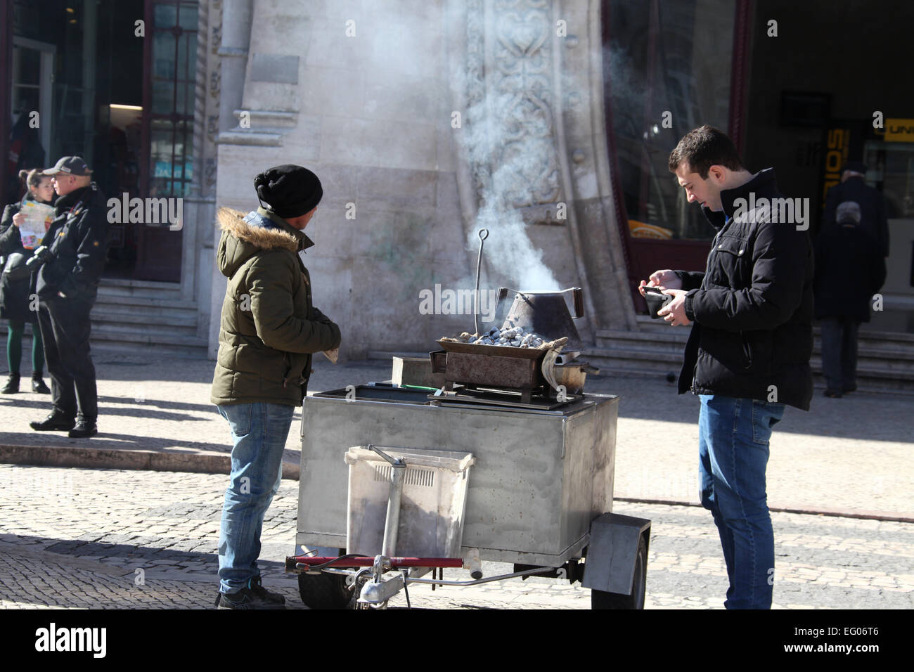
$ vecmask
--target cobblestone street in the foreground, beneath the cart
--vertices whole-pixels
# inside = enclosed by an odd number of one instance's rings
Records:
[[[0,607],[207,608],[215,599],[224,475],[0,464]],[[282,560],[298,483],[283,481],[263,526],[264,583],[303,608]],[[616,502],[648,517],[647,608],[720,608],[727,577],[700,507]],[[914,607],[914,524],[775,513],[775,607]],[[484,563],[484,573],[512,571]],[[468,578],[463,571],[446,579]],[[431,592],[413,606],[589,608],[578,584],[541,578]],[[402,595],[391,606],[404,606]]]

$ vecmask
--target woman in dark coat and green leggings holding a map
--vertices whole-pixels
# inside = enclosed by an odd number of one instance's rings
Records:
[[[19,178],[26,183],[26,197],[19,203],[4,208],[0,220],[0,255],[5,257],[3,276],[0,277],[0,317],[9,320],[9,334],[6,338],[6,359],[9,363],[9,378],[0,393],[16,394],[19,391],[19,366],[22,363],[22,336],[26,323],[32,325],[32,391],[50,394],[51,390],[42,379],[45,368],[45,351],[38,328],[37,311],[29,310],[29,289],[32,272],[26,267],[32,256],[34,245],[24,245],[19,227],[26,215],[20,212],[27,201],[51,205],[54,186],[51,176],[38,168],[19,171]]]

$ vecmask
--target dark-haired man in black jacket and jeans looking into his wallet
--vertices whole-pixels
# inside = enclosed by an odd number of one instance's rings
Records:
[[[773,169],[749,173],[716,128],[687,133],[669,168],[717,236],[705,272],[657,271],[647,284],[674,296],[659,315],[671,325],[693,325],[679,393],[692,389],[701,399],[701,501],[714,516],[727,563],[724,605],[767,609],[774,582],[769,438],[785,404],[808,411],[813,396],[808,224],[796,214],[802,204],[787,208]]]

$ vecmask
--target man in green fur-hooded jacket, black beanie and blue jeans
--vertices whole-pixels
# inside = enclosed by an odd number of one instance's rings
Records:
[[[292,412],[302,405],[313,353],[339,347],[340,330],[311,303],[299,252],[324,192],[300,165],[254,178],[260,208],[220,208],[217,260],[228,278],[211,400],[228,421],[231,476],[219,535],[219,609],[282,609],[260,584],[260,528],[282,479]]]

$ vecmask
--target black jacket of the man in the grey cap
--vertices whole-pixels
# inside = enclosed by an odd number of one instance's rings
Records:
[[[93,182],[54,203],[57,217],[42,245],[51,259],[37,272],[38,296],[56,296],[94,303],[99,278],[108,256],[108,216],[105,197]]]

